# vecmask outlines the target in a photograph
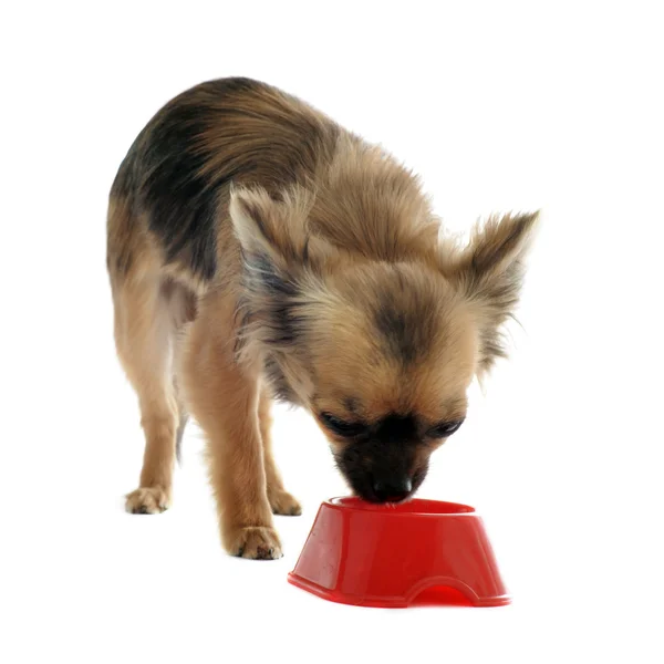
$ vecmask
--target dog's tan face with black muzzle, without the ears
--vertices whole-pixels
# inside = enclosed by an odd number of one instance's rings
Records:
[[[475,329],[439,274],[412,264],[355,268],[310,328],[308,407],[353,491],[401,501],[466,417]]]

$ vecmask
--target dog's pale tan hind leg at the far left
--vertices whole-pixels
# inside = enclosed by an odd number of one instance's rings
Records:
[[[170,505],[176,437],[184,422],[173,380],[174,321],[157,277],[115,284],[115,343],[138,395],[145,453],[138,488],[126,497],[134,513],[158,513]]]

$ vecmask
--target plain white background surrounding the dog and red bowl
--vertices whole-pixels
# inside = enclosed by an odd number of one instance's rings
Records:
[[[662,662],[662,20],[655,2],[3,4],[0,661]],[[542,207],[512,360],[421,495],[469,502],[506,609],[371,610],[289,585],[322,435],[279,411],[286,557],[226,557],[191,427],[175,504],[112,340],[107,190],[169,97],[266,80],[381,142],[467,229]]]

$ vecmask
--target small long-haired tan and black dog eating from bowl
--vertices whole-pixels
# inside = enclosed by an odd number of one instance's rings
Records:
[[[145,456],[127,510],[156,513],[188,414],[205,432],[226,549],[278,558],[299,515],[270,404],[307,408],[365,500],[407,499],[504,354],[537,214],[442,239],[419,183],[383,149],[247,79],[162,108],[110,196],[117,353]]]

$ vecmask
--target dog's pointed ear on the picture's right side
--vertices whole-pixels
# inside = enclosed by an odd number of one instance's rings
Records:
[[[473,232],[460,252],[445,260],[443,271],[469,302],[479,328],[478,373],[504,357],[500,326],[513,315],[523,282],[523,259],[539,212],[491,217]]]

